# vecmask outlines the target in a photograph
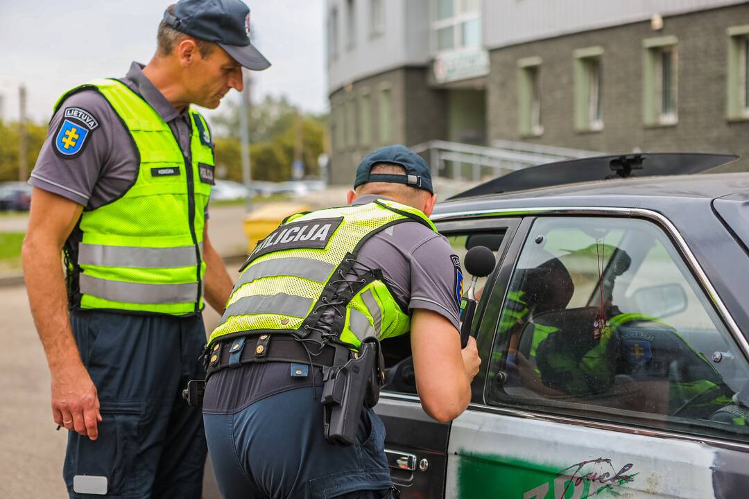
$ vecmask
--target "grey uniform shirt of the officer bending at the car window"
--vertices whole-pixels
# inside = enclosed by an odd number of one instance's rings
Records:
[[[362,196],[354,205],[372,203],[378,198],[382,197]],[[460,261],[444,236],[418,221],[395,224],[365,242],[357,262],[370,269],[382,269],[395,299],[408,310],[434,310],[460,328],[461,287],[456,272]],[[387,340],[383,341],[383,349],[387,349]],[[290,371],[284,362],[221,370],[208,380],[203,411],[230,414],[269,395],[312,385],[309,377],[293,378]],[[320,386],[322,379],[319,370],[315,371],[316,384]]]

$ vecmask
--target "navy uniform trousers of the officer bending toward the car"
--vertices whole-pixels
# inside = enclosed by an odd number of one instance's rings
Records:
[[[391,498],[380,417],[363,411],[354,444],[330,444],[323,432],[321,379],[314,395],[312,387],[267,393],[263,387],[273,384],[268,373],[252,372],[262,365],[219,371],[206,386],[205,432],[223,498]],[[288,364],[280,367],[289,373]],[[248,385],[257,385],[257,397],[246,397],[247,403],[237,407],[210,408],[220,393]]]

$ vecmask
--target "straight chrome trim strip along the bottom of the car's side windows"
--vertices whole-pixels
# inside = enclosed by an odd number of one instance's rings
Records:
[[[383,391],[380,399],[392,399],[399,400],[401,402],[414,402],[417,404],[421,403],[419,397],[417,397],[416,395],[398,394],[396,392],[390,391]],[[521,409],[509,408],[500,405],[474,404],[473,402],[468,405],[468,408],[466,410],[468,411],[471,409],[477,412],[495,414],[497,416],[521,417],[523,419],[542,420],[548,421],[550,423],[571,424],[574,426],[605,429],[613,432],[628,433],[630,435],[643,435],[653,438],[675,438],[677,440],[690,441],[699,444],[709,444],[714,447],[721,447],[728,450],[736,450],[744,453],[749,452],[749,443],[745,444],[738,441],[721,440],[718,438],[711,438],[700,435],[690,435],[688,433],[668,432],[659,429],[646,429],[625,426],[623,424],[617,423],[606,423],[603,421],[579,419],[576,417],[555,416],[554,414],[546,414],[543,412],[524,411]]]

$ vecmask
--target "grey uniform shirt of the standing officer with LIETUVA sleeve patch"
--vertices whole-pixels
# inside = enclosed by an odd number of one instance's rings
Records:
[[[139,94],[169,124],[183,155],[190,160],[190,123],[187,108],[181,112],[166,100],[143,74],[142,64],[133,62],[120,79]],[[94,129],[76,144],[79,152],[66,156],[57,138],[66,115],[85,112],[95,120]],[[84,114],[84,115],[85,115]],[[80,135],[80,133],[79,133]],[[58,148],[60,147],[60,148]],[[84,90],[68,97],[49,122],[46,139],[28,180],[32,186],[61,195],[95,209],[120,198],[136,181],[139,171],[136,146],[109,102],[97,91]]]

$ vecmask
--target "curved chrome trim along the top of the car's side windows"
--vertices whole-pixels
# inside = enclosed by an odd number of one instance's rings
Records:
[[[669,236],[673,239],[673,241],[676,242],[676,246],[677,248],[679,248],[679,251],[681,251],[682,255],[684,255],[689,268],[692,272],[694,272],[697,280],[700,281],[700,284],[703,287],[703,291],[707,292],[709,299],[718,310],[718,315],[721,317],[721,319],[723,319],[724,324],[727,325],[727,328],[731,336],[733,337],[733,340],[736,341],[736,343],[739,343],[739,348],[742,349],[745,360],[749,361],[749,342],[744,337],[744,334],[742,334],[739,325],[736,324],[736,321],[733,319],[733,316],[731,316],[728,308],[723,303],[723,300],[721,300],[721,297],[718,296],[718,292],[710,282],[702,266],[700,266],[700,263],[697,262],[697,257],[694,256],[686,241],[679,233],[679,230],[676,230],[676,226],[674,226],[673,223],[671,223],[671,221],[661,213],[655,212],[651,209],[619,208],[615,206],[542,206],[537,208],[530,207],[520,209],[480,209],[476,211],[438,213],[431,215],[431,220],[437,222],[446,221],[448,219],[461,220],[466,218],[483,218],[495,215],[617,215],[625,217],[646,218],[651,221],[655,221],[657,224],[663,227],[667,231]]]

